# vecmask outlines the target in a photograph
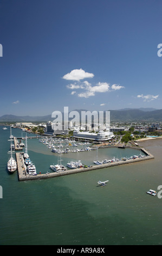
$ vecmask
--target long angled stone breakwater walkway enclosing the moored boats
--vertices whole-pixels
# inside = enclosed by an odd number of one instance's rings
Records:
[[[120,166],[121,164],[131,164],[131,163],[136,163],[136,162],[140,162],[140,161],[146,161],[146,160],[154,159],[154,156],[151,155],[146,149],[141,148],[141,151],[146,154],[145,157],[130,159],[130,160],[126,160],[126,161],[121,160],[121,161],[118,161],[118,162],[103,163],[103,164],[90,166],[90,167],[81,167],[81,168],[76,168],[76,169],[64,170],[63,172],[59,172],[59,173],[57,173],[57,172],[48,173],[47,172],[47,173],[41,174],[41,172],[40,172],[37,175],[29,175],[27,173],[27,168],[26,168],[24,160],[23,160],[23,154],[22,153],[16,153],[16,161],[17,161],[17,169],[18,169],[18,180],[19,181],[25,181],[25,180],[54,178],[54,177],[62,176],[62,175],[88,172],[90,170],[98,170],[98,169],[102,169],[102,168]]]

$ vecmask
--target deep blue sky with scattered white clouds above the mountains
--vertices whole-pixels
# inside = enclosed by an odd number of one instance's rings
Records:
[[[161,0],[1,0],[0,116],[161,109]]]

